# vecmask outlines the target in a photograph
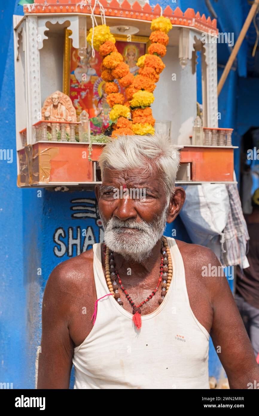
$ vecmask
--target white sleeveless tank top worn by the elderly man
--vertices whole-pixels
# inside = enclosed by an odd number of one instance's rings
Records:
[[[112,296],[99,300],[91,332],[74,349],[74,389],[210,388],[210,335],[191,310],[178,246],[174,238],[167,240],[173,280],[165,299],[154,312],[141,315],[139,331],[132,314]],[[109,293],[101,265],[101,243],[94,244],[93,251],[99,299]]]

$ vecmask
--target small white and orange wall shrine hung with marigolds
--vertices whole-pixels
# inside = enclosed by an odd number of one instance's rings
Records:
[[[23,17],[14,16],[17,186],[99,183],[98,158],[106,141],[116,139],[116,129],[170,135],[181,149],[178,183],[235,182],[232,129],[218,127],[215,19],[191,8],[163,10],[127,0],[36,0],[23,8]],[[159,43],[151,34],[159,32],[160,23],[153,22],[160,18],[168,22],[168,34],[162,30],[168,40]],[[93,43],[102,25],[117,52],[102,54]],[[109,67],[113,53],[121,58]],[[161,70],[152,69],[151,58]],[[146,68],[156,73],[155,81]],[[150,102],[139,106],[130,92],[137,98],[147,92]],[[128,105],[124,117],[114,113],[121,104]],[[151,120],[146,130],[140,127],[143,114]]]

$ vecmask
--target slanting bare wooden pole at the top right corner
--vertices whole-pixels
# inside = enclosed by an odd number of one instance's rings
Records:
[[[249,28],[249,26],[250,26],[250,24],[251,24],[251,22],[253,20],[253,17],[255,15],[255,13],[257,12],[258,5],[259,5],[259,0],[254,0],[254,3],[253,3],[253,5],[252,5],[252,7],[251,7],[251,9],[250,9],[250,11],[249,11],[249,13],[247,15],[246,21],[244,22],[244,25],[242,27],[242,30],[239,33],[239,37],[237,38],[237,42],[234,45],[234,48],[233,48],[233,50],[232,50],[232,52],[230,54],[230,57],[229,57],[229,59],[227,61],[227,64],[226,64],[226,66],[224,68],[223,74],[222,74],[222,76],[220,78],[220,81],[218,83],[218,87],[217,87],[217,94],[218,94],[218,96],[220,95],[220,92],[222,90],[222,87],[223,87],[223,85],[224,85],[224,83],[225,83],[225,81],[227,79],[227,76],[228,76],[229,71],[230,71],[230,69],[232,67],[232,64],[233,64],[234,60],[236,59],[237,53],[239,51],[239,48],[242,45],[242,42],[244,40],[245,35],[247,34],[247,30],[248,30],[248,28]]]

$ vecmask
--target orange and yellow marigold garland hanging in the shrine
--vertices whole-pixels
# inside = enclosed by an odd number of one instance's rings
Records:
[[[160,57],[166,54],[166,45],[169,37],[167,33],[172,24],[168,17],[160,16],[151,22],[153,31],[149,37],[151,45],[148,54],[138,58],[137,65],[140,68],[136,77],[129,71],[128,65],[123,62],[122,55],[115,46],[115,38],[106,25],[94,28],[93,44],[99,50],[103,62],[101,65],[101,77],[106,81],[105,92],[107,102],[112,107],[110,119],[115,122],[112,137],[121,134],[154,134],[155,119],[152,116],[150,105],[154,101],[153,91],[155,82],[158,82],[159,74],[165,68]],[[90,29],[87,41],[91,43],[92,29]],[[126,102],[123,94],[119,93],[118,85],[113,82],[118,80],[121,87],[125,88]],[[124,104],[124,105],[123,105]],[[132,111],[132,121],[129,120]]]

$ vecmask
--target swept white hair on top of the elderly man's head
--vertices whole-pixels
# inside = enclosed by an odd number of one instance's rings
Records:
[[[99,157],[102,180],[104,168],[118,170],[145,168],[143,173],[149,171],[150,174],[154,168],[158,168],[167,194],[174,191],[179,163],[179,147],[173,145],[168,136],[158,133],[147,136],[118,136],[118,139],[111,139],[104,146]]]

